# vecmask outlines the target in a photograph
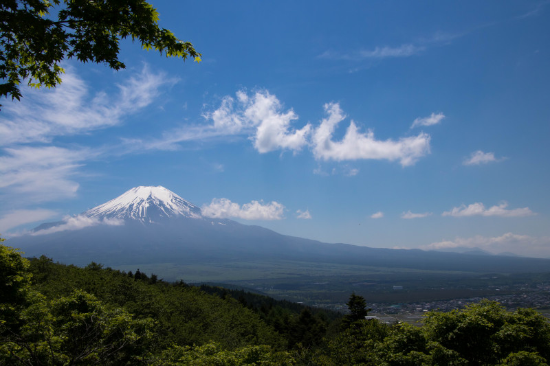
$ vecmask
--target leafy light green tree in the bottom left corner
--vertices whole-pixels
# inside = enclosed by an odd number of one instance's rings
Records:
[[[82,290],[54,301],[35,301],[21,312],[21,319],[19,332],[1,342],[0,363],[134,364],[151,336],[151,319],[133,319]]]

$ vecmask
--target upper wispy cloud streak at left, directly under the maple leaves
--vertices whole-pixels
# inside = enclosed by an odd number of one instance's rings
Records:
[[[121,123],[156,98],[170,83],[147,67],[118,85],[117,95],[91,95],[87,84],[69,69],[63,82],[48,90],[29,89],[21,102],[3,107],[0,116],[0,144],[50,142],[55,136],[87,133]]]

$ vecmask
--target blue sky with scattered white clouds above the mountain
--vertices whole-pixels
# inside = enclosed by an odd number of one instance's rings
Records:
[[[550,258],[548,1],[152,1],[203,54],[0,112],[0,232],[163,185],[324,242]]]

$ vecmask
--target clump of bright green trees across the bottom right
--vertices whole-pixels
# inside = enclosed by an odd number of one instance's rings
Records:
[[[362,320],[330,341],[321,365],[514,365],[550,360],[550,322],[494,301],[429,312],[423,326]]]

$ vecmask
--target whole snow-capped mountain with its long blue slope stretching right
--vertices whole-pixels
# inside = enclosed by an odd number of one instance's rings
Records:
[[[25,255],[108,266],[302,261],[436,271],[547,272],[550,260],[327,244],[259,226],[208,218],[164,187],[135,187],[83,214],[10,238]],[[396,243],[398,244],[398,243]],[[471,249],[470,249],[471,250]]]

